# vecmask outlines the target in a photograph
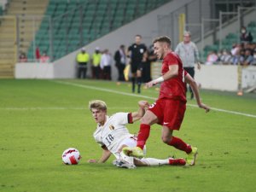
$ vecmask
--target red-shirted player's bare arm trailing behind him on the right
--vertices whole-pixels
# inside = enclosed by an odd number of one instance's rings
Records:
[[[198,86],[197,86],[197,84],[196,84],[196,82],[195,82],[195,79],[193,79],[193,78],[189,75],[189,73],[187,73],[187,74],[185,75],[185,82],[186,82],[187,84],[189,84],[190,87],[192,88],[192,90],[193,90],[193,92],[194,92],[194,95],[195,95],[195,100],[196,100],[196,102],[197,102],[198,107],[205,109],[206,112],[209,112],[209,111],[210,111],[210,108],[209,108],[207,105],[205,105],[204,103],[201,102],[200,95],[199,95],[199,90],[198,90]]]

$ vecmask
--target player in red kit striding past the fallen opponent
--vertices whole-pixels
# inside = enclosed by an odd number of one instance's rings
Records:
[[[186,159],[190,166],[195,165],[197,148],[184,143],[182,139],[172,136],[173,130],[179,130],[186,110],[185,82],[188,83],[195,94],[200,108],[208,112],[210,108],[201,102],[197,84],[193,78],[183,70],[183,63],[179,56],[172,52],[171,39],[160,37],[154,39],[154,54],[162,62],[162,76],[146,84],[148,88],[154,84],[160,85],[160,96],[141,119],[140,131],[137,136],[137,147],[123,148],[125,154],[143,157],[143,148],[149,137],[150,126],[155,123],[162,125],[162,141],[167,145],[184,151],[188,154]]]

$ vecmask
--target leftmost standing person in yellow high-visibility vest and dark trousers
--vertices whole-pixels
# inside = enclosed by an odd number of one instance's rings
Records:
[[[87,64],[90,61],[90,55],[86,53],[84,48],[81,49],[81,52],[77,55],[78,63],[78,79],[85,79],[87,73]]]

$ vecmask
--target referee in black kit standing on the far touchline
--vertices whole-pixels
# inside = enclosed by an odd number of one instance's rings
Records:
[[[135,83],[137,80],[137,93],[141,93],[142,73],[143,73],[143,55],[147,51],[145,44],[141,44],[142,36],[135,36],[135,44],[128,48],[127,56],[131,58],[131,82],[132,92],[135,92]]]

